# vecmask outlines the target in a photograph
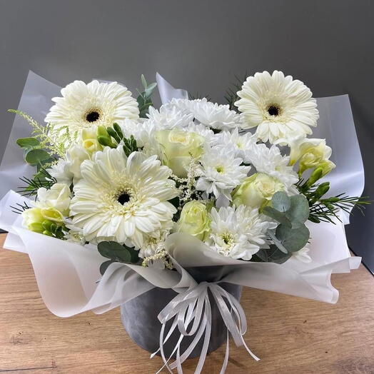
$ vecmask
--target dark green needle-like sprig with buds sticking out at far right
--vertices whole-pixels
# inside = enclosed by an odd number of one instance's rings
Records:
[[[323,198],[330,189],[329,182],[315,183],[313,180],[310,181],[310,178],[307,181],[300,178],[296,187],[308,201],[308,220],[315,223],[330,222],[335,224],[336,219],[340,221],[338,216],[340,209],[349,213],[353,206],[357,206],[363,213],[365,205],[370,204],[370,201],[365,196],[350,197],[345,195],[345,193]]]

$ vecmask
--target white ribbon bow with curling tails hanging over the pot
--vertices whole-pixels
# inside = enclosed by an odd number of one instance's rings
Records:
[[[151,355],[151,358],[160,352],[163,359],[163,367],[158,370],[158,373],[166,367],[170,373],[173,373],[173,369],[177,369],[178,374],[182,374],[182,363],[188,358],[191,354],[193,348],[196,347],[201,336],[204,335],[203,348],[201,348],[201,355],[198,360],[198,365],[196,366],[195,374],[201,373],[203,369],[204,362],[206,360],[206,355],[208,352],[208,345],[211,338],[211,303],[209,301],[208,290],[211,291],[213,298],[216,302],[219,312],[223,322],[227,328],[227,340],[226,340],[226,354],[225,359],[223,360],[223,365],[221,368],[221,374],[225,373],[226,367],[228,364],[228,353],[229,353],[229,333],[233,337],[233,340],[237,346],[244,345],[244,348],[248,353],[255,359],[260,360],[256,355],[254,355],[251,350],[246,345],[246,342],[243,339],[243,335],[247,330],[247,320],[246,314],[244,313],[241,304],[236,300],[236,298],[224,290],[217,283],[208,283],[202,282],[194,288],[190,288],[183,293],[176,295],[173,300],[171,300],[168,305],[166,305],[161,313],[158,314],[158,320],[160,320],[162,327],[160,332],[160,348]],[[165,335],[166,323],[168,320],[173,318],[173,323],[170,330]],[[191,328],[188,330],[188,326],[192,323]],[[166,343],[168,338],[170,338],[173,331],[178,326],[178,330],[181,333],[181,336],[171,353],[170,357],[166,359],[165,353],[163,350],[163,344]],[[192,336],[192,343],[186,348],[186,350],[181,354],[181,341],[184,336]],[[172,355],[176,353],[176,360],[169,364]]]

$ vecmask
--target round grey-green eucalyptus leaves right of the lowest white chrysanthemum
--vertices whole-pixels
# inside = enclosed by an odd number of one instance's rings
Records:
[[[279,223],[276,231],[268,231],[273,241],[271,248],[257,253],[257,261],[282,263],[293,252],[305,247],[309,230],[305,221],[309,216],[308,201],[303,195],[288,196],[279,191],[271,199],[271,206],[263,208],[263,214]]]

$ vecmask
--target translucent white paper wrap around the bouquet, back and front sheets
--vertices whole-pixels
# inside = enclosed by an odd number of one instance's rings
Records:
[[[161,76],[157,80],[164,102],[186,97],[186,91],[174,90]],[[51,106],[50,98],[58,95],[58,86],[30,72],[19,110],[43,123]],[[338,165],[329,174],[333,193],[360,196],[363,163],[348,96],[320,98],[318,106],[320,120],[314,134],[325,137],[333,147],[333,161]],[[28,231],[21,225],[21,216],[11,212],[10,206],[27,202],[9,189],[19,186],[20,176],[31,176],[32,168],[24,164],[22,151],[15,144],[16,138],[29,136],[29,132],[29,126],[16,118],[0,166],[0,196],[5,195],[0,201],[0,227],[9,231],[4,248],[29,254],[44,303],[60,317],[86,310],[103,313],[153,287],[173,288],[177,292],[193,288],[196,281],[184,270],[190,266],[226,265],[221,281],[335,303],[338,290],[330,283],[331,273],[346,273],[360,264],[359,257],[350,256],[343,223],[308,223],[310,263],[295,258],[281,265],[233,260],[211,251],[200,241],[181,240],[181,234],[173,234],[168,238],[167,248],[177,271],[112,263],[101,278],[99,266],[106,258],[98,251]],[[348,217],[343,218],[347,223]]]

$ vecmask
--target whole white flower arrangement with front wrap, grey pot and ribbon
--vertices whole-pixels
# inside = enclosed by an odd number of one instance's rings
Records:
[[[241,287],[335,303],[330,274],[360,263],[342,219],[368,202],[329,194],[335,163],[308,138],[319,114],[301,81],[257,73],[218,105],[158,76],[159,109],[157,84],[141,83],[133,98],[74,81],[45,124],[14,111],[31,125],[16,144],[34,172],[1,200],[4,248],[29,253],[56,315],[121,305],[131,338],[169,371],[200,356],[201,373],[230,335],[258,360]],[[221,373],[227,363],[228,343]]]

